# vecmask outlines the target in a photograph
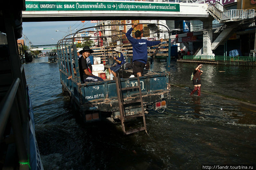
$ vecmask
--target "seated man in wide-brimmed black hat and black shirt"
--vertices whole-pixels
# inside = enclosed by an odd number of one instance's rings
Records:
[[[80,51],[82,53],[82,57],[78,60],[79,73],[82,82],[95,82],[95,81],[103,81],[102,78],[97,77],[88,71],[88,65],[86,58],[90,56],[94,51],[89,48],[88,45],[84,46],[83,50]]]

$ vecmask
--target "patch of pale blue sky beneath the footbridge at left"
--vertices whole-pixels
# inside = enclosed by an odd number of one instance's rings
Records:
[[[85,21],[84,28],[93,27],[95,24],[91,21]],[[23,22],[23,37],[20,39],[24,39],[24,35],[26,35],[33,45],[56,44],[63,36],[70,34],[70,26],[71,32],[74,33],[74,29],[83,28],[83,23],[81,21]],[[59,31],[56,32],[55,30]],[[28,40],[26,40],[27,45]]]

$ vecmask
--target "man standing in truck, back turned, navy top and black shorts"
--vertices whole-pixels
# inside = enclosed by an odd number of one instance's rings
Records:
[[[138,25],[137,21],[134,21],[132,27],[125,34],[127,39],[132,44],[132,63],[133,63],[133,73],[137,74],[137,76],[141,76],[143,73],[143,69],[147,63],[148,59],[148,48],[157,44],[160,44],[163,41],[163,38],[160,41],[148,41],[145,39],[141,39],[141,32],[137,30],[135,32],[135,38],[132,38],[131,33],[132,30]]]

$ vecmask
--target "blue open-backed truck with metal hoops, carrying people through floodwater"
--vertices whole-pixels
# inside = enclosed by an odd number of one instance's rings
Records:
[[[170,50],[166,54],[166,71],[154,71],[154,63],[151,58],[150,70],[144,70],[141,77],[135,77],[132,68],[125,69],[121,67],[117,77],[113,80],[104,79],[104,81],[98,82],[82,82],[79,74],[76,44],[74,44],[74,39],[72,45],[66,45],[66,42],[72,41],[72,38],[69,37],[75,37],[77,33],[82,32],[84,29],[78,30],[73,35],[67,35],[58,42],[57,56],[62,92],[70,96],[72,108],[85,123],[99,121],[102,118],[102,114],[104,114],[113,121],[121,122],[124,134],[131,134],[141,130],[147,132],[145,113],[148,113],[148,107],[150,106],[154,110],[164,109],[168,106],[168,99],[171,98]],[[76,37],[77,39],[79,37]],[[81,38],[81,41],[83,39],[84,37]],[[170,49],[171,41],[170,39],[166,41],[169,43],[159,44],[155,46],[155,50],[163,49],[161,47],[163,45]],[[111,61],[113,61],[111,58],[115,47],[103,46],[100,47],[100,50],[99,47],[95,48],[98,50],[94,50],[93,58],[100,57],[101,63],[105,64],[105,72],[103,74],[106,74],[106,70],[111,66]],[[126,51],[126,54],[124,54],[126,61],[132,61],[131,44],[123,44],[121,47],[122,51]],[[152,55],[152,50],[149,49],[148,51],[148,55]],[[127,127],[124,124],[128,121],[139,119],[138,117],[143,118],[142,126],[126,130]]]

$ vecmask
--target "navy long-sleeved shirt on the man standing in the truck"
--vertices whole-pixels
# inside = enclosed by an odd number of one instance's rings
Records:
[[[133,28],[130,28],[125,34],[127,39],[132,44],[132,62],[140,61],[142,63],[147,63],[148,59],[148,48],[153,45],[160,44],[161,41],[148,41],[145,39],[135,39],[130,35],[132,33]]]

